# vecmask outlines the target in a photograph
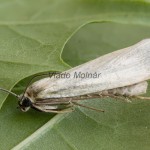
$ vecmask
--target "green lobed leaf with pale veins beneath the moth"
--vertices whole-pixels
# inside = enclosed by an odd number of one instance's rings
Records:
[[[63,71],[66,63],[76,66],[150,37],[150,4],[143,1],[1,0],[0,8],[0,85],[11,89],[17,83],[16,93],[28,76]],[[5,98],[0,93],[2,150],[149,149],[148,101],[97,99],[85,103],[105,113],[79,108],[54,115],[23,113],[15,98]]]

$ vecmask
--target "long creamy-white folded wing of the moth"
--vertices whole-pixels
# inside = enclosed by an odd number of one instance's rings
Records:
[[[79,74],[94,74],[80,78]],[[133,85],[150,79],[150,39],[72,68],[62,74],[69,78],[44,78],[27,92],[36,98],[61,98],[85,95]],[[97,74],[97,77],[96,77]]]

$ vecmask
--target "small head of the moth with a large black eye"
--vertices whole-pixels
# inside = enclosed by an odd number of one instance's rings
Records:
[[[28,97],[20,96],[18,105],[23,112],[26,112],[31,108],[32,102]]]

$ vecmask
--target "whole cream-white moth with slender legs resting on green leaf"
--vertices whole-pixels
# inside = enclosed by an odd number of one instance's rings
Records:
[[[68,76],[63,76],[67,74]],[[95,76],[94,76],[95,74]],[[61,76],[60,76],[61,75]],[[87,76],[88,75],[88,76]],[[30,108],[42,112],[65,113],[74,105],[97,110],[78,103],[94,98],[139,98],[146,93],[150,79],[150,39],[101,56],[52,77],[45,77],[29,85],[16,95],[22,111]],[[103,111],[103,110],[98,110]]]

